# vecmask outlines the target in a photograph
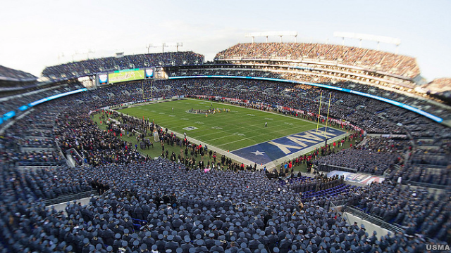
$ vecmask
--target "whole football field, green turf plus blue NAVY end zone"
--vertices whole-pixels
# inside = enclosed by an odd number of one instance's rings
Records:
[[[211,108],[220,112],[207,117],[204,113],[188,112]],[[345,134],[331,127],[324,131],[321,124],[316,131],[316,122],[304,119],[207,100],[159,100],[116,110],[140,119],[144,117],[171,131],[186,133],[197,141],[230,150],[230,153],[259,164],[321,143],[326,136],[333,138]]]

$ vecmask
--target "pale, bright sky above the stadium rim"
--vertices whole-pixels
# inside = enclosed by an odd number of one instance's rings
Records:
[[[179,51],[213,60],[219,51],[251,42],[245,37],[249,32],[295,31],[298,42],[330,44],[342,44],[334,32],[355,32],[399,38],[398,53],[416,58],[421,75],[432,81],[451,77],[450,10],[449,0],[4,1],[0,65],[40,77],[44,67],[73,60],[162,51],[149,44],[180,42]],[[345,45],[359,41],[345,39]],[[363,41],[362,47],[377,44]],[[380,49],[395,53],[396,46],[380,44]]]

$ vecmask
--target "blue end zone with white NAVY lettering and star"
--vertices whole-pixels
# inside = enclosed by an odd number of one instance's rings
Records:
[[[278,160],[279,158],[291,155],[292,153],[302,151],[318,143],[324,143],[326,136],[330,139],[345,134],[344,131],[338,129],[328,127],[327,131],[324,131],[325,129],[326,127],[321,127],[318,131],[314,129],[299,134],[292,134],[265,143],[233,150],[231,153],[257,164],[266,164],[273,160]]]

